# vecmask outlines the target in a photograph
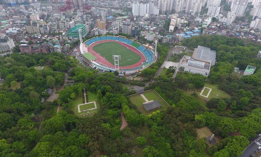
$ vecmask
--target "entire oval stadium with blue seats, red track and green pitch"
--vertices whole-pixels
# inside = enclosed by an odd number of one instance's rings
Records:
[[[80,46],[83,61],[91,67],[131,75],[147,68],[156,61],[151,46],[138,44],[123,36],[101,36],[91,38]]]

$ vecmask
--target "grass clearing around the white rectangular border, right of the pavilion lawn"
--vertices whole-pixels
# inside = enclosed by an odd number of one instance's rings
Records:
[[[204,85],[205,87],[209,87],[211,88],[211,92],[209,94],[209,97],[203,97],[201,95],[199,95],[201,93],[201,91],[189,91],[189,90],[183,90],[184,93],[186,93],[187,95],[191,95],[191,93],[196,92],[197,93],[197,99],[201,102],[201,105],[207,107],[207,102],[205,101],[205,99],[210,100],[212,98],[230,98],[231,95],[229,95],[227,92],[218,89],[218,85],[217,84],[212,84],[212,83],[205,83]],[[203,89],[202,88],[196,88],[193,84],[189,83],[189,88],[193,88],[193,89]],[[209,89],[205,88],[204,92],[202,95],[207,95],[207,93],[209,92]]]

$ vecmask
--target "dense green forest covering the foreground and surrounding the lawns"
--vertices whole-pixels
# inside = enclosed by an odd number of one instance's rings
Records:
[[[190,49],[201,45],[217,51],[209,82],[197,74],[182,73],[172,78],[178,69],[153,78],[168,53],[168,46],[158,46],[160,60],[141,76],[155,80],[144,89],[154,89],[170,107],[149,115],[142,114],[127,97],[136,93],[129,88],[132,83],[114,73],[82,68],[59,53],[0,56],[4,79],[0,86],[0,156],[240,156],[248,139],[261,131],[261,59],[256,59],[261,46],[223,36],[195,36],[182,44]],[[35,69],[39,64],[50,67]],[[254,74],[240,77],[233,73],[234,67],[244,69],[249,64],[256,67]],[[46,101],[49,95],[45,90],[61,87],[65,74],[75,83],[54,91],[59,93],[57,101]],[[203,87],[206,83],[216,84],[231,97],[212,98],[205,107],[197,94],[185,93],[191,84]],[[80,118],[74,115],[72,106],[84,89],[95,93],[100,109]],[[58,105],[61,108],[56,113]],[[121,112],[129,123],[123,130]],[[197,138],[202,127],[222,140],[209,146],[205,138]]]

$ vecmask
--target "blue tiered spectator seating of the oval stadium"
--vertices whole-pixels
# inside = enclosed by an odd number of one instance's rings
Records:
[[[97,41],[100,41],[100,40],[115,40],[115,41],[124,42],[128,45],[131,45],[131,46],[137,48],[145,56],[146,60],[148,61],[148,64],[151,64],[154,60],[154,54],[150,49],[147,49],[147,48],[143,47],[142,45],[140,45],[136,42],[133,42],[129,39],[126,39],[126,38],[115,37],[115,36],[101,36],[101,37],[96,37],[96,38],[93,38],[91,40],[88,40],[88,41],[85,42],[85,44],[87,44],[89,46],[93,42],[97,42]],[[139,68],[140,67],[134,68],[134,69],[129,69],[129,70],[136,70],[136,69],[139,69]]]

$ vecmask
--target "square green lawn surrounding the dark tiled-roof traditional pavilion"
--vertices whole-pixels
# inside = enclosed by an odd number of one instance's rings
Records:
[[[157,110],[163,111],[164,109],[167,109],[169,107],[169,105],[154,90],[146,91],[143,93],[143,95],[148,99],[148,101],[158,100],[159,103],[162,105],[159,109],[155,109],[155,110],[147,112],[142,104],[142,103],[145,103],[145,100],[141,97],[140,94],[130,96],[129,98],[130,98],[131,102],[137,106],[138,110],[141,113],[143,113],[145,115],[149,115],[152,112],[155,112]]]

